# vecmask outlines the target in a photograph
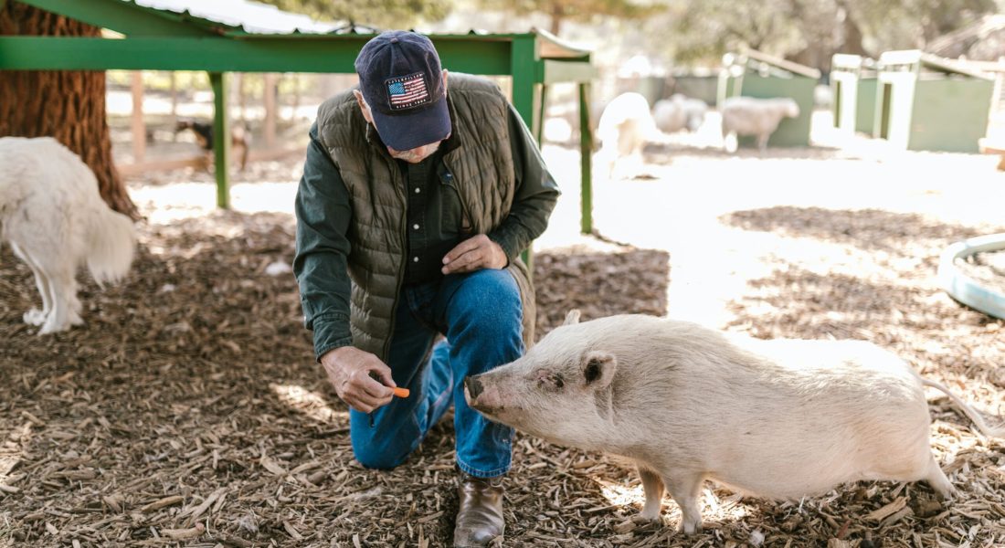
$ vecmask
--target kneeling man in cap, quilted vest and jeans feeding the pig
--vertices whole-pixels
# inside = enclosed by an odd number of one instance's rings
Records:
[[[461,382],[533,341],[520,252],[559,191],[498,87],[450,74],[448,95],[425,36],[384,32],[356,70],[359,87],[318,111],[296,195],[306,324],[363,466],[402,464],[455,407],[454,546],[484,546],[504,532],[513,430],[468,407]]]

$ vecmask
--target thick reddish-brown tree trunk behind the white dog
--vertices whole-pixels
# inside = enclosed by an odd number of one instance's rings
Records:
[[[100,29],[15,1],[0,2],[0,35],[99,36]],[[0,70],[0,136],[49,136],[83,160],[102,198],[138,218],[112,162],[99,70]]]

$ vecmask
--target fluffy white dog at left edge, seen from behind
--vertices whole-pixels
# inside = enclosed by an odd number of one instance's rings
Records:
[[[82,323],[76,268],[87,263],[98,285],[130,269],[133,221],[113,211],[97,193],[97,179],[54,139],[0,138],[0,242],[35,275],[42,310],[24,321],[39,335]]]

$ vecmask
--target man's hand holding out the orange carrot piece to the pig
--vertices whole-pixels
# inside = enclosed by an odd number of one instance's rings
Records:
[[[392,388],[397,385],[391,378],[391,368],[377,356],[344,346],[325,353],[321,364],[339,397],[357,411],[369,413],[390,403]],[[379,380],[374,380],[371,374]]]

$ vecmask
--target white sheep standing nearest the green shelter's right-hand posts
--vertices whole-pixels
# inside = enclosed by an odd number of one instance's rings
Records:
[[[621,94],[608,103],[600,115],[597,139],[601,148],[597,157],[607,163],[609,175],[622,159],[629,158],[641,164],[642,147],[656,134],[649,102],[633,92]]]

